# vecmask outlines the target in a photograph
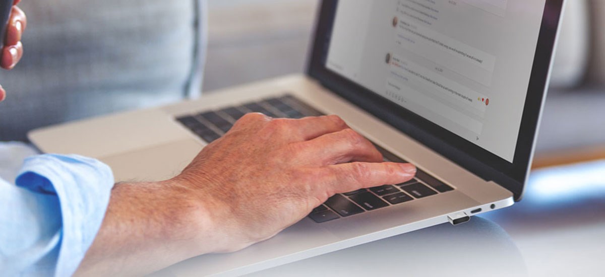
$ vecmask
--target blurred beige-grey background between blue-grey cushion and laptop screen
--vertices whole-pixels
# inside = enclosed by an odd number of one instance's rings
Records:
[[[209,0],[204,91],[304,71],[316,0]]]

